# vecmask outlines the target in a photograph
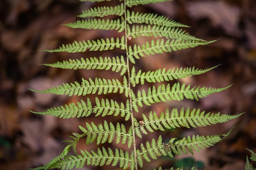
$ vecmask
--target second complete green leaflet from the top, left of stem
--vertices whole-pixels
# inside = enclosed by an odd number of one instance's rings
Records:
[[[102,29],[102,30],[118,30],[122,32],[124,30],[124,18],[116,20],[104,20],[104,19],[93,19],[93,20],[78,20],[74,23],[64,24],[71,28],[82,28],[82,29]]]

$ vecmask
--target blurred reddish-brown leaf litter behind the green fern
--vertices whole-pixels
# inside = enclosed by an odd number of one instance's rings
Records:
[[[44,90],[63,82],[81,81],[89,77],[120,79],[119,73],[103,70],[62,70],[42,66],[69,58],[124,55],[120,51],[103,53],[46,53],[40,49],[55,49],[74,40],[116,37],[116,31],[71,29],[61,25],[74,22],[82,10],[94,6],[114,6],[118,0],[110,2],[79,2],[77,0],[1,0],[0,2],[0,170],[25,170],[47,163],[62,152],[73,132],[81,133],[78,125],[86,121],[100,123],[101,117],[82,119],[58,119],[42,116],[28,110],[44,111],[50,107],[63,106],[70,102],[86,100],[86,96],[56,96],[37,94],[28,90]],[[178,128],[166,133],[150,133],[140,140],[151,141],[162,135],[168,141],[172,137],[188,135],[219,135],[236,126],[229,137],[214,147],[175,158],[161,158],[145,163],[143,169],[158,166],[205,166],[208,170],[244,169],[245,148],[256,152],[256,1],[255,0],[174,0],[158,4],[142,5],[134,11],[166,15],[176,21],[191,26],[190,34],[201,39],[217,42],[193,49],[186,49],[162,55],[144,57],[138,61],[137,69],[143,71],[165,67],[209,68],[221,64],[214,70],[200,76],[178,80],[192,86],[225,87],[227,90],[212,94],[199,102],[184,100],[143,107],[136,113],[150,110],[161,113],[168,107],[200,108],[211,113],[236,115],[246,112],[236,120],[204,128]],[[114,16],[113,16],[114,17]],[[144,39],[145,40],[145,39]],[[131,44],[141,44],[141,39],[132,39]],[[149,41],[149,40],[147,40]],[[152,84],[146,84],[146,88]],[[144,88],[145,88],[144,86]],[[148,87],[147,87],[148,86]],[[142,87],[137,88],[136,90]],[[90,97],[90,96],[89,96]],[[108,95],[113,99],[123,96]],[[106,97],[105,97],[106,98]],[[127,123],[122,117],[109,116],[113,123]],[[111,147],[111,146],[110,146]],[[125,148],[118,144],[112,147]],[[94,150],[95,143],[88,146],[80,140],[78,149]],[[185,162],[185,163],[184,163]],[[253,163],[255,165],[255,162]],[[83,170],[113,169],[85,166]],[[118,169],[118,168],[117,168]]]

